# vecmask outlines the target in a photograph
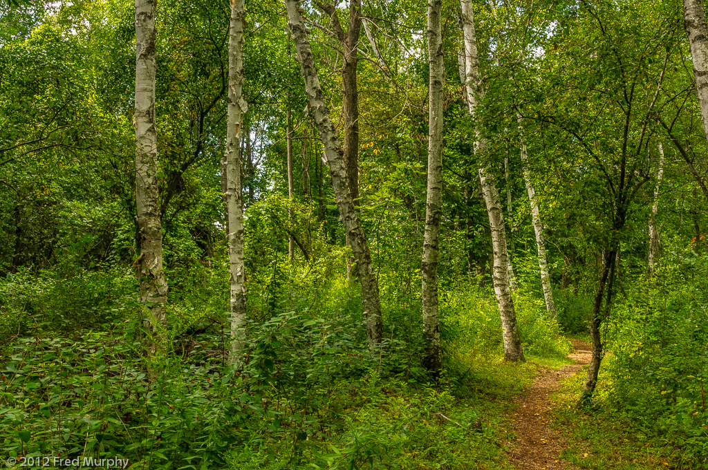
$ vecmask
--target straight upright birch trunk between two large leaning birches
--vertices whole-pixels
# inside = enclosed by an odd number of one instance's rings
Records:
[[[423,234],[421,263],[423,334],[428,341],[424,364],[437,377],[442,367],[440,326],[438,319],[438,235],[442,206],[442,101],[445,67],[442,60],[442,0],[428,2],[428,57],[430,91],[428,101],[428,191],[426,230]]]

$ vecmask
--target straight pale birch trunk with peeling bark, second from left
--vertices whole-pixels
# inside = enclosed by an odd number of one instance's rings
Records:
[[[244,265],[244,196],[241,183],[242,115],[248,105],[241,96],[244,84],[244,0],[233,0],[229,25],[229,101],[226,136],[227,205],[229,214],[229,283],[231,284],[232,357],[244,348],[246,323],[246,268]]]

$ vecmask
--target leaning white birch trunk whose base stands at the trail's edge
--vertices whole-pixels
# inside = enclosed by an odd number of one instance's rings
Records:
[[[464,33],[464,54],[467,102],[469,103],[469,113],[473,120],[477,120],[479,100],[482,96],[481,82],[479,79],[479,57],[477,55],[476,33],[474,31],[474,12],[472,11],[472,1],[462,0],[462,31]],[[479,122],[476,124],[476,142],[474,152],[480,158],[486,150],[486,139],[482,137]],[[494,177],[488,166],[479,168],[479,183],[482,188],[482,195],[489,214],[489,225],[491,227],[491,239],[493,248],[493,270],[492,280],[496,301],[499,306],[501,325],[504,337],[504,357],[506,360],[525,360],[521,346],[521,337],[516,323],[516,312],[509,289],[508,263],[509,256],[506,246],[506,227],[504,226],[504,216],[501,209],[501,200],[496,190]]]

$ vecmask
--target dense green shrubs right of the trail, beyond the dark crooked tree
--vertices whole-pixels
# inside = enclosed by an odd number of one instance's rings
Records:
[[[646,432],[708,457],[708,255],[670,253],[617,305],[607,397]],[[708,466],[708,465],[707,465]],[[705,467],[701,467],[705,468]]]

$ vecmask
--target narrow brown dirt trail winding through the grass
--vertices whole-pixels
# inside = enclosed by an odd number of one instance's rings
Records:
[[[530,389],[514,400],[519,406],[511,415],[516,442],[508,442],[507,457],[517,470],[578,469],[559,459],[566,442],[547,426],[551,411],[550,394],[559,388],[562,379],[572,377],[592,357],[588,343],[577,339],[572,341],[575,352],[568,357],[575,364],[560,370],[542,368]]]

